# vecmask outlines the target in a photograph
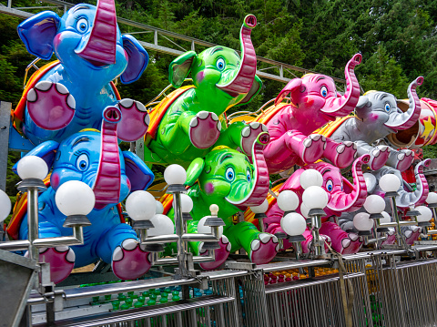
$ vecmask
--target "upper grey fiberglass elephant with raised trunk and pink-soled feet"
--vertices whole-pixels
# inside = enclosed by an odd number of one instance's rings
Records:
[[[336,141],[352,141],[358,147],[358,154],[369,153],[372,170],[381,169],[384,164],[403,171],[412,165],[414,154],[409,149],[396,150],[371,144],[391,133],[411,128],[421,115],[421,102],[416,87],[422,85],[423,77],[417,77],[408,87],[410,106],[406,112],[397,107],[396,97],[390,93],[369,91],[360,97],[355,116],[341,118],[323,128],[320,134]]]

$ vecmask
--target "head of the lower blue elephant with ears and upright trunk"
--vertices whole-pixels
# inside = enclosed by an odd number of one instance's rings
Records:
[[[137,155],[118,148],[119,109],[107,107],[103,115],[101,133],[86,130],[61,143],[46,141],[26,154],[45,159],[49,169],[53,168],[50,184],[55,190],[68,180],[85,182],[96,195],[95,209],[119,203],[130,191],[147,189],[154,179]]]

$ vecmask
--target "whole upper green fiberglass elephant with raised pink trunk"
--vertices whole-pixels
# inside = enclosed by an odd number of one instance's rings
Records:
[[[169,81],[179,87],[150,111],[150,128],[145,137],[145,160],[187,168],[204,157],[215,145],[241,148],[248,156],[259,133],[267,128],[258,123],[231,124],[222,129],[219,116],[229,107],[249,103],[261,88],[255,75],[257,58],[250,40],[257,24],[247,15],[240,31],[241,57],[224,46],[178,56],[168,67]],[[181,87],[191,74],[193,85]],[[223,127],[224,128],[224,127]]]

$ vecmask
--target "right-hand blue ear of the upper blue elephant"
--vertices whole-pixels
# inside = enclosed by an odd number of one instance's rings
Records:
[[[148,54],[146,49],[139,44],[134,36],[123,35],[123,48],[127,53],[127,67],[120,80],[123,84],[137,81],[148,65]]]

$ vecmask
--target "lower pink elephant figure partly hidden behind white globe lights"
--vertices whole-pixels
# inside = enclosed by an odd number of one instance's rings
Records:
[[[325,240],[331,241],[333,250],[341,254],[352,254],[361,249],[362,240],[356,233],[348,233],[340,229],[340,226],[335,222],[330,221],[330,217],[340,217],[341,213],[355,211],[360,209],[367,197],[366,182],[362,175],[361,166],[369,162],[370,155],[363,155],[355,159],[352,164],[353,185],[348,179],[341,176],[340,169],[326,162],[318,162],[310,164],[293,173],[289,179],[280,187],[279,192],[290,189],[294,191],[301,200],[303,190],[300,186],[300,175],[307,169],[316,169],[323,176],[322,188],[328,193],[328,205],[323,210],[326,216],[322,218],[320,235],[322,234]],[[297,209],[300,212],[300,208]],[[264,220],[267,225],[267,230],[271,234],[284,232],[280,228],[280,220],[284,215],[284,211],[279,209],[276,200],[272,200],[269,204],[269,210],[266,212],[268,218]],[[303,234],[305,240],[302,241],[302,250],[307,253],[310,248],[312,236],[310,230],[306,230]],[[290,242],[284,241],[284,250],[290,248]]]

